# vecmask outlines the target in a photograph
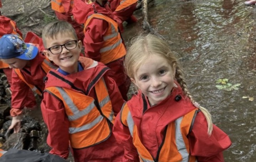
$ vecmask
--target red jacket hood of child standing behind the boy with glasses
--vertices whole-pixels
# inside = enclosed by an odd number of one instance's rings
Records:
[[[93,13],[101,13],[112,18],[113,20],[116,20],[116,17],[110,9],[108,1],[103,2],[103,6],[101,6],[97,1],[94,1],[91,4],[87,4],[81,0],[74,0],[72,13],[76,22],[80,24],[85,23],[88,19],[88,16],[92,15]]]

